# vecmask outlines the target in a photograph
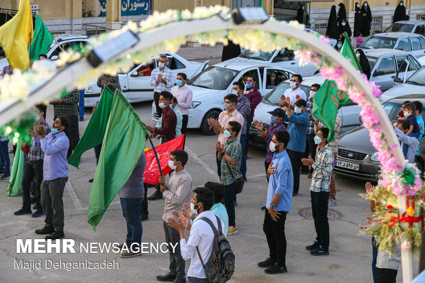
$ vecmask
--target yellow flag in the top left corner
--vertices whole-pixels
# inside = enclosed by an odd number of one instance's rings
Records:
[[[21,0],[18,13],[0,27],[0,45],[12,69],[23,71],[28,68],[28,46],[33,32],[31,5],[29,0]]]

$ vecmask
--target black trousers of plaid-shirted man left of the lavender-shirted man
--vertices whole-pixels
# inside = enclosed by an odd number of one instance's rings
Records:
[[[40,186],[42,182],[42,164],[43,160],[28,160],[25,158],[23,165],[23,176],[22,176],[22,209],[31,210],[31,183],[32,180],[36,181],[36,204],[38,208],[41,208],[40,202]]]

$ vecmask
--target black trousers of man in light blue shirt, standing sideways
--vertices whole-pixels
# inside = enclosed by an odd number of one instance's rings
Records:
[[[270,259],[277,262],[280,267],[286,264],[287,238],[284,234],[284,222],[287,219],[287,212],[280,212],[278,221],[271,219],[269,210],[265,211],[263,231],[267,238],[270,250]]]

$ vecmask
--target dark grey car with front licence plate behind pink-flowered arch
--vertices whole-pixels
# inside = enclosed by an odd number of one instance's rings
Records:
[[[383,104],[383,108],[391,121],[397,120],[403,101],[408,99],[410,101],[421,101],[425,106],[425,95],[423,93],[393,98]],[[425,118],[425,112],[422,112],[422,118]],[[416,157],[415,164],[423,172],[425,138],[420,140],[419,145],[419,156]],[[378,151],[370,143],[369,130],[365,127],[356,127],[339,140],[338,156],[334,167],[337,175],[376,183],[379,179],[379,166]]]

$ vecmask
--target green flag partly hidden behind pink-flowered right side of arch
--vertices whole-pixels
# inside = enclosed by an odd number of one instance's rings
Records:
[[[350,37],[348,37],[346,33],[345,38],[347,38],[347,40],[344,40],[344,44],[339,53],[350,60],[357,70],[362,71],[360,62],[357,60],[356,53],[354,53],[354,49],[351,45]],[[335,84],[335,81],[328,81],[328,79],[326,79],[315,94],[315,99],[313,101],[313,116],[321,121],[321,123],[324,123],[329,129],[329,142],[335,140],[334,128],[338,109],[350,102],[351,99],[348,97],[347,92],[340,90],[337,84]]]

